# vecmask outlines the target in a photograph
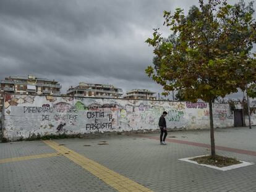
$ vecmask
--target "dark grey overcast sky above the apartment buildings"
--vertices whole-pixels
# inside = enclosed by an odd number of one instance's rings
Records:
[[[236,2],[236,1],[229,1]],[[248,1],[247,1],[248,2]],[[35,74],[62,93],[80,81],[161,92],[145,74],[163,10],[198,0],[0,0],[0,78]],[[255,8],[255,5],[254,5]]]

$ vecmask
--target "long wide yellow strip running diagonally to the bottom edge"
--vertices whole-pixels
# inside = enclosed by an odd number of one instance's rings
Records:
[[[44,143],[48,144],[51,148],[58,151],[63,156],[67,157],[71,161],[75,162],[76,164],[83,167],[83,169],[87,170],[88,172],[92,173],[96,177],[100,178],[106,184],[112,186],[117,191],[120,192],[142,192],[147,191],[150,192],[148,188],[145,186],[140,185],[139,183],[130,180],[127,177],[120,175],[119,173],[114,172],[101,164],[98,164],[95,161],[88,159],[85,156],[80,155],[79,153],[72,151],[69,148],[64,146],[59,146],[58,143],[54,141],[43,141]]]

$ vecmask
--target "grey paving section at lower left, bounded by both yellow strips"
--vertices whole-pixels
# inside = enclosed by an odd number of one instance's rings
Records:
[[[66,157],[0,164],[0,191],[116,191]]]

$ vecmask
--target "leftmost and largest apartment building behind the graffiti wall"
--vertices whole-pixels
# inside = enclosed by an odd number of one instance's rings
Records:
[[[6,77],[0,81],[0,109],[4,93],[61,95],[60,90],[58,81],[38,78],[35,75]]]

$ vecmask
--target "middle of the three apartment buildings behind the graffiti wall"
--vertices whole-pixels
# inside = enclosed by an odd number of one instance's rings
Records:
[[[102,85],[80,82],[78,86],[70,87],[67,96],[82,96],[95,98],[121,98],[122,89],[113,85]]]

